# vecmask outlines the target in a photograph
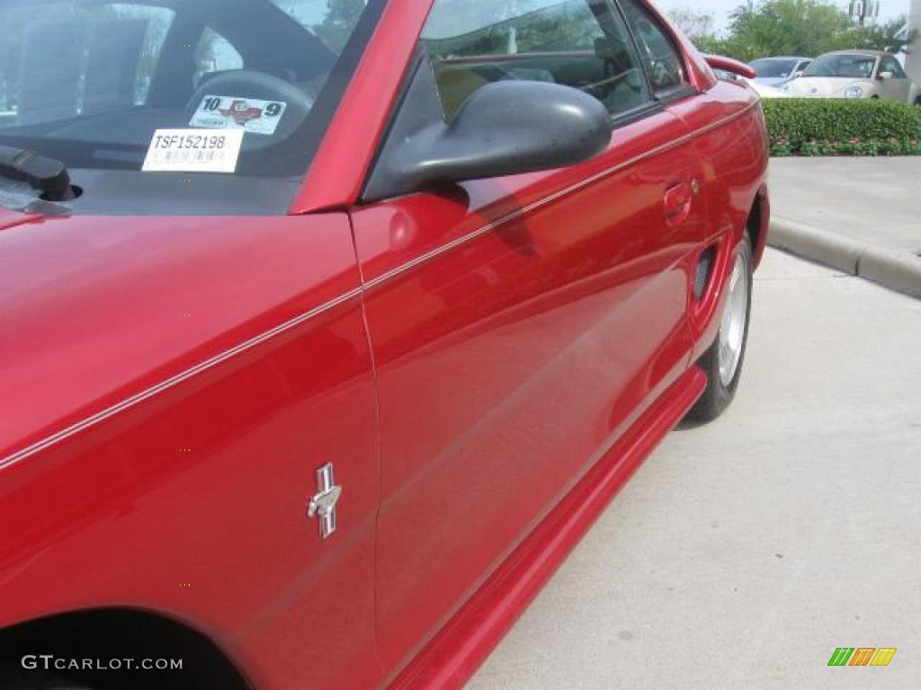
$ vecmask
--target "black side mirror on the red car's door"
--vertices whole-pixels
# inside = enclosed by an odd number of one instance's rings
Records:
[[[391,126],[363,199],[581,163],[611,143],[612,119],[569,86],[518,79],[477,89],[450,122],[426,59]]]

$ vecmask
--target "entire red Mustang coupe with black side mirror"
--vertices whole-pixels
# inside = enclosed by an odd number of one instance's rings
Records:
[[[736,392],[764,116],[645,0],[0,27],[2,688],[461,685]]]

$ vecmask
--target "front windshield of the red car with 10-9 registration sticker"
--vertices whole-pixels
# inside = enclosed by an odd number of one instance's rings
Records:
[[[157,129],[242,128],[239,162],[252,165],[239,172],[297,174],[306,158],[287,165],[296,147],[275,144],[308,137],[366,11],[365,0],[0,0],[0,144],[140,170]],[[221,118],[204,117],[208,97],[222,98]]]

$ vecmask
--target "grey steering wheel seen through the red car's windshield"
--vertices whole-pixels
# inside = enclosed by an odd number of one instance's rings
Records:
[[[271,136],[252,133],[243,138],[244,151],[256,151],[268,148],[284,141],[300,128],[307,120],[310,109],[317,99],[317,94],[309,93],[304,88],[287,82],[275,75],[250,70],[232,70],[208,78],[204,76],[202,83],[195,89],[188,105],[186,114],[192,121],[195,112],[201,107],[205,97],[214,96],[232,98],[245,101],[247,98],[267,100],[273,103],[285,104],[285,111],[281,121]]]

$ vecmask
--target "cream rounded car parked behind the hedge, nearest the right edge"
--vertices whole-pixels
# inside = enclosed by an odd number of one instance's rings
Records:
[[[921,90],[888,52],[827,52],[780,87],[804,98],[883,98],[921,106]]]

